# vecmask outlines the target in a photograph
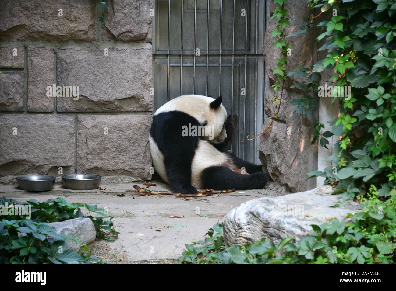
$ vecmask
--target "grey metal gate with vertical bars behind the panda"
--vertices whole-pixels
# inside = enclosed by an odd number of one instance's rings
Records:
[[[183,94],[222,95],[239,116],[229,150],[259,163],[263,125],[265,1],[154,0],[154,111]]]

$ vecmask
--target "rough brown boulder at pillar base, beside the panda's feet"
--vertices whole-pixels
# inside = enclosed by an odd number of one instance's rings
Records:
[[[268,127],[266,120],[262,130]],[[273,181],[288,191],[298,192],[316,186],[307,173],[317,165],[317,145],[311,145],[312,126],[307,118],[295,114],[286,124],[274,122],[260,137],[259,159]]]

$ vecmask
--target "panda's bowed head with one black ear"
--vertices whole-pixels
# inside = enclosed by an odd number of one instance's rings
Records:
[[[210,135],[206,136],[209,142],[213,144],[218,144],[223,142],[227,138],[227,132],[225,130],[225,122],[227,120],[227,111],[225,110],[223,104],[223,98],[220,96],[217,99],[213,99],[209,103],[209,108],[207,109],[206,115],[206,125],[210,127]]]

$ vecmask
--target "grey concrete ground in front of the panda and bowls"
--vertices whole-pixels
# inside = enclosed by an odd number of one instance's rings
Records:
[[[168,190],[162,181],[154,181],[156,191]],[[136,183],[140,187],[141,183]],[[35,193],[14,186],[0,185],[0,196],[19,201],[62,197],[68,202],[97,204],[109,208],[114,216],[114,227],[120,232],[115,242],[95,241],[90,249],[108,263],[152,262],[174,263],[183,252],[184,245],[201,240],[207,230],[221,221],[239,204],[280,193],[269,189],[236,191],[211,197],[176,198],[170,195],[138,196],[130,192],[117,197],[124,191],[134,191],[134,184],[109,184],[102,190],[78,191],[55,185],[51,191]],[[171,216],[182,218],[170,218]]]

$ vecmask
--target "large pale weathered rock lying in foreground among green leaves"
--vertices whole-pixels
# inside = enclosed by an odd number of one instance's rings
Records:
[[[295,236],[303,238],[312,230],[311,224],[321,225],[331,219],[342,220],[354,214],[358,203],[341,202],[340,195],[331,195],[333,188],[324,186],[310,191],[278,197],[249,200],[228,212],[223,220],[227,245],[248,244],[257,240],[274,242]],[[338,207],[331,208],[335,204]]]

